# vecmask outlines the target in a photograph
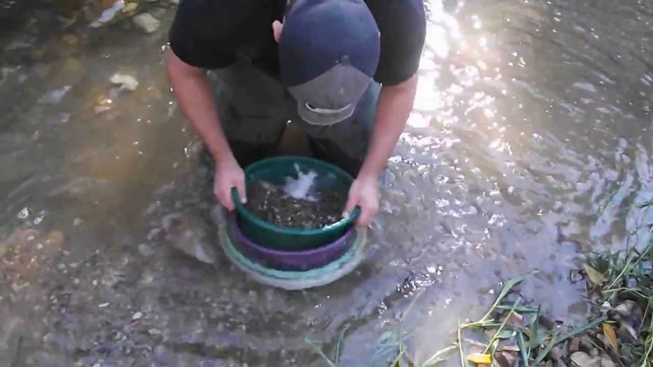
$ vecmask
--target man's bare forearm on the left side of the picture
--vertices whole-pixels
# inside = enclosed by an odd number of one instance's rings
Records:
[[[231,159],[233,155],[222,131],[205,72],[183,63],[168,50],[168,78],[183,115],[204,140],[216,163]]]

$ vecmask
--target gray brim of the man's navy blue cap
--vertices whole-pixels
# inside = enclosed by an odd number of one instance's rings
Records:
[[[338,63],[304,84],[288,88],[299,116],[313,125],[332,125],[351,117],[372,78],[347,63]]]

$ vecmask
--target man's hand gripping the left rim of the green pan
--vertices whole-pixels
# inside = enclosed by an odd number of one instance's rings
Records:
[[[227,210],[231,211],[236,208],[232,197],[231,189],[236,187],[238,199],[242,204],[247,202],[245,190],[245,173],[243,172],[236,159],[229,157],[223,161],[215,163],[215,178],[213,183],[213,192]]]

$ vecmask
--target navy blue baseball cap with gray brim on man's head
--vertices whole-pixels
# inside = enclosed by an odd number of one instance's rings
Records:
[[[281,81],[313,125],[349,118],[376,71],[379,28],[362,0],[296,0],[279,39]]]

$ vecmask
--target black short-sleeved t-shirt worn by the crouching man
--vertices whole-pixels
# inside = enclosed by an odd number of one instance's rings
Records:
[[[426,36],[422,0],[365,1],[381,31],[381,58],[374,80],[394,85],[419,67]],[[202,69],[229,66],[236,53],[279,76],[272,22],[283,20],[286,0],[182,0],[170,29],[170,48]]]

